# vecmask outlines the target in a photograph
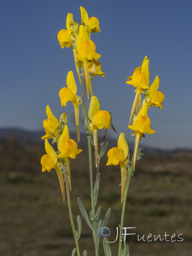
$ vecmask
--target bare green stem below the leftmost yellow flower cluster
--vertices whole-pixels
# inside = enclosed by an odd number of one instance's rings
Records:
[[[77,249],[77,256],[80,256],[79,244],[78,244],[78,239],[77,239],[77,236],[76,236],[75,226],[74,226],[74,222],[73,222],[73,215],[72,215],[72,211],[71,211],[71,200],[70,200],[70,192],[69,192],[67,167],[66,167],[65,162],[63,164],[64,164],[64,167],[65,167],[65,178],[66,178],[66,188],[67,188],[67,201],[68,201],[68,208],[69,208],[69,216],[70,216],[70,220],[71,220],[71,227],[72,227],[73,235],[74,235],[74,238],[75,238],[75,244],[76,244],[76,249]]]

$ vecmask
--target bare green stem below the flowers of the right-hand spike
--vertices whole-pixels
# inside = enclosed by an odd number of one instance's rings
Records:
[[[121,231],[122,232],[123,232],[123,223],[124,223],[124,216],[125,216],[125,206],[126,206],[126,200],[127,200],[127,193],[128,193],[128,189],[129,189],[129,184],[130,184],[131,176],[132,176],[132,171],[133,171],[134,152],[135,152],[135,149],[133,151],[133,156],[132,156],[132,161],[131,161],[131,168],[130,168],[130,171],[129,171],[129,174],[128,174],[127,183],[126,183],[126,187],[125,187],[125,194],[124,194],[124,199],[123,199],[123,207],[122,207],[122,213],[121,213]],[[121,255],[122,240],[123,240],[123,237],[121,236],[121,233],[120,233],[118,256]]]

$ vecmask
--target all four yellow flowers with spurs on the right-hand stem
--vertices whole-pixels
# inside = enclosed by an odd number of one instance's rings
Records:
[[[164,100],[164,94],[160,91],[157,91],[159,87],[159,77],[156,76],[154,82],[149,86],[149,60],[147,56],[145,56],[144,60],[140,67],[134,69],[132,76],[127,77],[130,81],[127,81],[127,84],[132,84],[135,87],[136,95],[133,102],[129,125],[128,127],[135,131],[133,135],[135,135],[135,145],[134,145],[134,154],[133,154],[133,171],[135,170],[135,163],[138,158],[138,149],[139,149],[139,141],[141,137],[144,137],[144,133],[153,134],[155,133],[154,130],[150,128],[151,121],[147,116],[148,109],[150,106],[158,106],[162,109],[162,102]],[[146,90],[146,92],[145,92]],[[145,98],[141,99],[141,93],[145,95]],[[142,105],[141,105],[142,104]],[[133,119],[132,125],[130,125],[131,120]],[[128,155],[123,154],[124,150],[120,145],[119,141],[122,142],[121,145],[126,145],[126,141],[122,139],[121,133],[118,140],[118,148],[111,148],[108,151],[108,162],[109,164],[120,164],[121,166],[121,202],[123,202],[125,184],[126,184],[126,177],[125,175],[125,165],[128,163],[128,159],[126,159]],[[123,137],[124,138],[124,137]],[[127,146],[128,148],[128,146]],[[130,162],[130,161],[129,161]],[[127,166],[128,170],[128,166]]]

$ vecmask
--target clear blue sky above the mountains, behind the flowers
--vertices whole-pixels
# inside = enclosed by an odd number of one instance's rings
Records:
[[[156,148],[192,148],[191,139],[191,1],[1,1],[1,124],[42,130],[48,104],[55,116],[67,112],[74,131],[71,102],[61,107],[59,90],[66,86],[69,70],[75,72],[72,49],[57,40],[66,28],[68,12],[80,23],[83,6],[89,17],[100,20],[101,32],[92,34],[104,78],[97,76],[93,91],[100,109],[112,113],[118,132],[130,138],[128,119],[135,93],[125,83],[145,55],[150,83],[160,78],[165,95],[163,109],[151,107],[151,128],[142,143]],[[76,83],[78,81],[76,79]],[[78,87],[80,95],[82,88]],[[110,136],[118,138],[110,132]]]

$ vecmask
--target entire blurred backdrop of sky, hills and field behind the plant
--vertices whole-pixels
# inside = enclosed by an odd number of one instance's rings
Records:
[[[56,172],[42,173],[40,159],[45,154],[41,136],[48,104],[55,116],[68,113],[70,136],[76,140],[72,104],[61,107],[58,96],[66,86],[68,71],[75,71],[73,53],[70,48],[60,48],[57,33],[66,28],[68,12],[80,23],[80,5],[89,17],[100,20],[101,33],[92,35],[92,40],[106,75],[97,76],[92,84],[100,109],[112,113],[117,131],[108,131],[109,148],[116,147],[120,132],[125,132],[132,153],[134,137],[127,125],[134,88],[125,81],[145,55],[150,84],[158,75],[159,90],[165,95],[163,109],[151,107],[148,113],[156,133],[141,140],[144,156],[131,180],[124,226],[136,227],[140,237],[150,233],[164,236],[166,231],[183,234],[184,241],[148,243],[130,236],[130,255],[188,256],[192,238],[192,4],[186,0],[0,2],[0,255],[71,255],[75,247]],[[81,92],[78,86],[77,94]],[[83,153],[70,161],[74,219],[81,215],[77,196],[91,210],[83,128],[79,148]],[[121,218],[121,178],[119,166],[106,166],[106,162],[105,156],[100,166],[98,206],[102,206],[101,219],[112,208],[108,227],[109,241],[114,241]],[[84,221],[79,241],[81,252],[87,250],[91,255],[92,235]],[[102,238],[100,241],[103,256]],[[112,254],[117,255],[117,247],[111,245]]]

